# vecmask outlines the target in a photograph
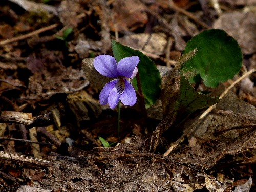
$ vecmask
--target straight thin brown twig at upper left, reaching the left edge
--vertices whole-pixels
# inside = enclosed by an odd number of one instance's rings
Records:
[[[31,33],[28,33],[28,34],[25,34],[25,35],[20,35],[20,36],[13,37],[13,38],[10,38],[10,39],[2,40],[2,41],[0,41],[0,46],[5,45],[5,44],[10,44],[11,42],[23,40],[23,39],[26,39],[28,37],[32,37],[32,36],[37,35],[39,33],[54,29],[57,26],[58,26],[58,24],[52,24],[50,26],[35,30],[35,31],[33,31]]]

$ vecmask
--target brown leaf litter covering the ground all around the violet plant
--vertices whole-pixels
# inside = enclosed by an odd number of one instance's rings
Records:
[[[23,9],[19,7],[21,2]],[[145,51],[155,63],[164,67],[169,59],[165,58],[167,37],[173,39],[171,51],[180,53],[188,37],[204,29],[200,22],[205,20],[200,15],[206,14],[207,9],[211,12],[209,15],[215,13],[212,7],[204,8],[202,12],[188,1],[174,2],[173,6],[168,1],[63,0],[60,3],[53,1],[51,6],[33,2],[35,7],[39,6],[48,14],[48,20],[41,21],[39,18],[44,15],[40,14],[41,11],[28,14],[35,11],[25,7],[31,5],[31,1],[0,3],[3,10],[0,14],[8,18],[0,19],[1,111],[27,112],[31,117],[50,112],[55,120],[50,126],[36,124],[31,131],[27,127],[23,129],[12,119],[9,119],[12,123],[2,121],[0,148],[10,156],[0,156],[3,167],[0,191],[15,191],[17,188],[19,191],[33,191],[35,188],[40,191],[255,189],[255,106],[236,95],[240,92],[241,97],[246,91],[242,88],[246,87],[245,82],[235,86],[234,93],[229,92],[222,98],[171,154],[163,156],[161,154],[197,121],[202,112],[191,113],[186,119],[184,116],[185,120],[172,113],[180,84],[178,67],[173,65],[172,71],[168,69],[162,74],[161,99],[156,108],[148,109],[153,109],[148,124],[140,122],[139,106],[122,108],[121,144],[99,147],[99,136],[108,142],[117,139],[116,112],[97,103],[98,92],[109,79],[103,79],[95,72],[93,57],[110,54],[111,39],[120,38],[131,47],[133,41],[136,49]],[[223,2],[230,4],[229,1]],[[245,67],[250,70],[255,67],[255,38],[252,35],[255,30],[251,19],[254,13],[237,12],[239,6],[247,8],[246,3],[241,2],[227,7],[229,15],[223,13],[218,20],[214,16],[207,19],[211,19],[212,27],[225,29],[237,38],[246,55]],[[179,8],[182,13],[178,13]],[[195,17],[191,18],[187,13],[194,13]],[[34,23],[26,22],[28,19]],[[36,34],[36,38],[28,36],[1,44],[3,40],[55,22],[61,25]],[[229,23],[233,27],[228,25],[230,28],[227,29],[227,25],[223,25],[225,22],[249,24],[235,26]],[[167,27],[169,24],[170,28]],[[55,35],[63,34],[68,27],[73,28],[73,34],[68,37],[65,47]],[[149,31],[154,32],[152,36],[148,35]],[[248,78],[251,86],[255,76]],[[228,87],[228,83],[225,82],[224,86]],[[223,87],[219,89],[219,93],[223,90]],[[253,92],[247,90],[246,94],[250,98],[247,101],[255,99]],[[177,119],[183,121],[177,122]],[[5,138],[20,138],[22,141]],[[24,145],[26,140],[35,143]],[[44,145],[49,143],[53,145]],[[11,156],[21,159],[11,160]],[[24,163],[24,159],[37,163]],[[43,166],[38,163],[40,159],[44,159]]]

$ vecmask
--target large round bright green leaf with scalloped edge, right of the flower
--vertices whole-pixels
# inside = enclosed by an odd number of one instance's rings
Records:
[[[181,66],[181,73],[186,77],[188,71],[196,76],[189,78],[191,83],[202,78],[206,86],[217,87],[219,82],[233,78],[242,66],[243,55],[238,42],[221,29],[205,30],[194,36],[182,54],[195,48],[196,56]]]

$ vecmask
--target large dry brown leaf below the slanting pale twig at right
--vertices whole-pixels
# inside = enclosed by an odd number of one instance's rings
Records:
[[[229,92],[216,108],[191,134],[197,138],[197,143],[183,148],[177,157],[209,169],[226,154],[234,155],[256,147],[254,106]]]

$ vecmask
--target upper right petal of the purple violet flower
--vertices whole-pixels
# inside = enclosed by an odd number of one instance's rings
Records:
[[[118,62],[117,72],[119,76],[131,78],[140,59],[138,56],[125,57]]]

